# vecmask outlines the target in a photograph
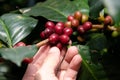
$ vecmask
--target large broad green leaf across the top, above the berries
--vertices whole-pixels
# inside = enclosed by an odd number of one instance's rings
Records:
[[[25,15],[43,16],[48,20],[63,22],[67,20],[68,15],[78,10],[88,14],[87,0],[47,0],[31,8],[20,9]]]

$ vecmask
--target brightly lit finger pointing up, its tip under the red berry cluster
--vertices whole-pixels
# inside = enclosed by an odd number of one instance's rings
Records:
[[[48,55],[41,66],[40,71],[43,71],[41,73],[45,72],[45,73],[54,74],[59,61],[60,61],[60,50],[57,47],[52,47],[49,50]]]

